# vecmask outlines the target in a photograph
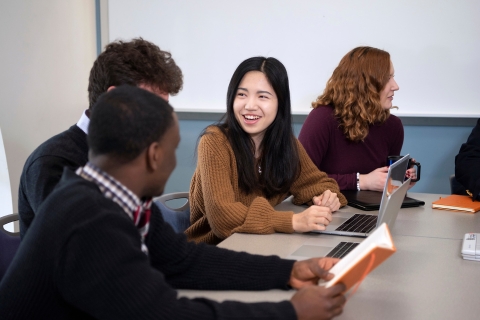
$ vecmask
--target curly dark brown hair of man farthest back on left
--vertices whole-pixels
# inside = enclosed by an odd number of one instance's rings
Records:
[[[177,94],[183,86],[183,75],[172,55],[142,38],[109,43],[93,64],[88,80],[90,109],[111,86],[149,85]]]

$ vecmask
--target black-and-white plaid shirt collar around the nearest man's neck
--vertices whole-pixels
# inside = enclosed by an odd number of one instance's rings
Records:
[[[97,184],[103,195],[117,203],[133,220],[133,212],[142,202],[132,191],[90,162],[78,168],[76,174]]]

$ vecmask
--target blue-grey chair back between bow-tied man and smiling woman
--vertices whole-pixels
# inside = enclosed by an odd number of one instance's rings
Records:
[[[168,201],[184,199],[186,202],[177,208],[167,205]],[[177,233],[184,232],[190,227],[190,203],[188,192],[167,193],[153,199],[153,202],[160,208],[163,220],[169,223]],[[173,201],[172,201],[173,202]]]

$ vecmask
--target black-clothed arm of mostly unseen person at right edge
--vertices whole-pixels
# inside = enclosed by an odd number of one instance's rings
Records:
[[[455,157],[455,179],[480,200],[480,119]]]

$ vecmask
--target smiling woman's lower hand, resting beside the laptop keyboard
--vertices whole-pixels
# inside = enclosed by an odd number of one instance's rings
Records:
[[[332,221],[332,212],[328,207],[310,206],[303,212],[292,217],[293,230],[308,232],[312,230],[325,230],[325,226]]]

